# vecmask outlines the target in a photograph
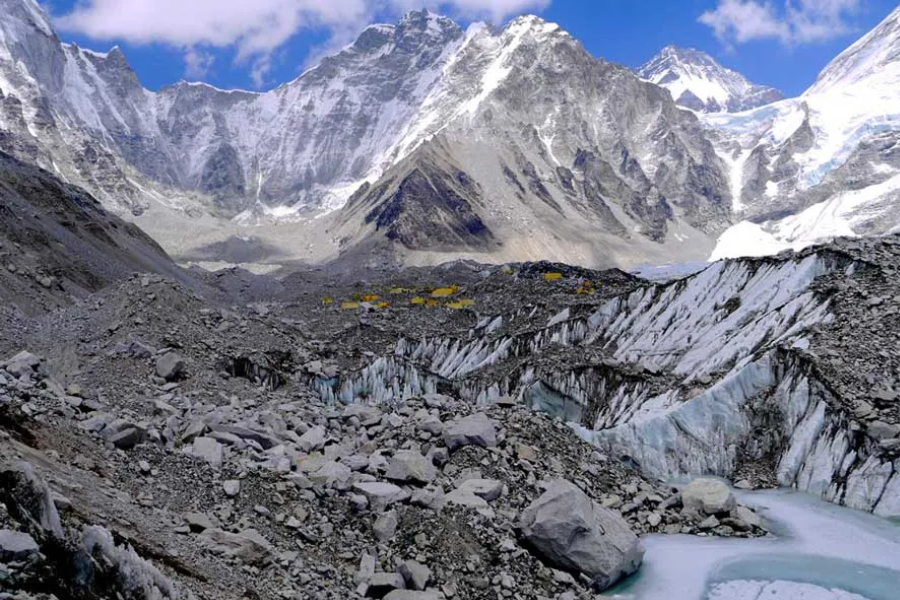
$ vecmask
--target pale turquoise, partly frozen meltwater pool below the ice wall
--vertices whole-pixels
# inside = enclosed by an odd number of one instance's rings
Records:
[[[789,491],[751,492],[773,536],[652,535],[619,600],[900,600],[900,524]]]

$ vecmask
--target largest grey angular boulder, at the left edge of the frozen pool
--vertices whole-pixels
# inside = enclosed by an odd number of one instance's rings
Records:
[[[522,512],[523,541],[559,569],[589,577],[603,591],[641,565],[644,550],[628,523],[575,484],[551,481]]]

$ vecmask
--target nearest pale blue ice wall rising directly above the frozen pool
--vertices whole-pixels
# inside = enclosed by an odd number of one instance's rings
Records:
[[[732,477],[742,459],[775,458],[778,483],[830,502],[900,516],[900,460],[857,435],[805,359],[773,350],[705,392],[585,440],[661,479]]]

